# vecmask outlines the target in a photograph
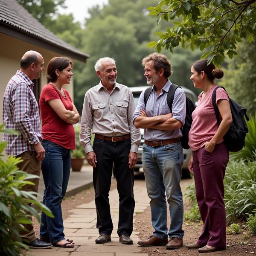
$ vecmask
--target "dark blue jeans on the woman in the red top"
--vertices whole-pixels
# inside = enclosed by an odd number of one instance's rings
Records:
[[[54,218],[49,218],[42,212],[40,238],[55,244],[65,239],[61,201],[67,190],[71,157],[69,149],[48,140],[43,140],[42,145],[45,149],[45,158],[42,161],[45,185],[43,204],[52,211]]]

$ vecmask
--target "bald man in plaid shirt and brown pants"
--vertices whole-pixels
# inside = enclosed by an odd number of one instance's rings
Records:
[[[33,93],[33,79],[38,79],[44,70],[44,59],[39,52],[28,51],[20,60],[20,70],[10,79],[3,96],[3,123],[5,128],[14,129],[20,135],[4,134],[7,141],[6,154],[21,157],[18,168],[28,174],[40,176],[41,160],[44,148],[41,145],[41,123],[38,103]],[[32,179],[34,186],[23,186],[25,191],[38,192],[39,179]],[[21,231],[20,237],[30,248],[50,248],[52,244],[40,241],[35,236],[31,224],[26,224],[27,231]]]

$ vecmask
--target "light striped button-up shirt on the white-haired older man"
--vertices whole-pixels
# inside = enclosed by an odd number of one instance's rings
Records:
[[[138,151],[140,129],[132,121],[135,110],[131,90],[122,84],[115,83],[111,93],[100,82],[87,90],[84,96],[81,117],[80,141],[86,153],[93,151],[90,144],[93,134],[108,137],[131,135],[131,152]]]

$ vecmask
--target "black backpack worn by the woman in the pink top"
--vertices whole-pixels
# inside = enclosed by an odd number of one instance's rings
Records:
[[[219,87],[226,90],[222,86],[217,86],[212,93],[212,105],[215,111],[218,125],[220,125],[221,123],[218,107],[216,106],[216,90]],[[249,121],[249,117],[246,114],[246,109],[240,106],[233,99],[230,99],[230,97],[229,97],[229,102],[230,102],[230,109],[231,109],[233,121],[227,133],[224,135],[223,139],[224,139],[224,144],[227,146],[228,151],[237,152],[241,150],[245,145],[244,140],[245,140],[246,134],[248,133],[248,127],[244,120],[244,116],[247,119],[247,121]]]

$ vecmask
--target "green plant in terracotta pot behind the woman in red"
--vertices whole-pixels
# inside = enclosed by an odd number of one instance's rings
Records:
[[[71,168],[73,172],[79,172],[83,166],[85,159],[84,148],[79,141],[80,126],[75,127],[76,134],[76,149],[71,150]]]

